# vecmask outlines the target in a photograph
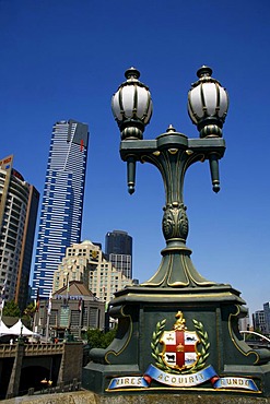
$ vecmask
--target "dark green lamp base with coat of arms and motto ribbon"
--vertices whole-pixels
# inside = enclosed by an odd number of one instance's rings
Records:
[[[270,396],[270,352],[238,332],[245,301],[230,285],[129,287],[111,301],[118,333],[92,349],[83,387],[99,394]]]

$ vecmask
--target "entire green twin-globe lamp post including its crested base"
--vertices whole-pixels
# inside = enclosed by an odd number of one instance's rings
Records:
[[[143,140],[152,99],[140,73],[130,68],[113,96],[127,162],[129,193],[134,192],[137,162],[154,165],[165,188],[162,229],[166,247],[155,274],[119,290],[109,314],[118,333],[107,349],[92,349],[83,385],[102,394],[190,393],[270,395],[270,353],[251,349],[238,332],[246,316],[240,293],[204,278],[186,246],[188,218],[183,199],[187,169],[209,161],[212,187],[220,190],[219,159],[225,152],[222,128],[228,96],[203,66],[188,93],[188,112],[199,131],[189,139],[169,126],[155,140]]]

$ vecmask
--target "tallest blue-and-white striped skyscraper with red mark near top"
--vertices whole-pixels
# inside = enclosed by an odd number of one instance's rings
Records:
[[[46,170],[33,277],[32,297],[37,290],[48,298],[54,273],[66,248],[81,239],[89,127],[69,121],[52,128]]]

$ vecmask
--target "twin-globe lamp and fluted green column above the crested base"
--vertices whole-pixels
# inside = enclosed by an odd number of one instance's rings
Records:
[[[188,94],[189,116],[200,139],[188,139],[169,126],[166,133],[155,140],[142,140],[144,127],[152,116],[152,99],[134,68],[126,71],[127,81],[113,96],[113,112],[121,132],[120,155],[127,162],[129,192],[134,192],[137,162],[148,162],[161,171],[166,193],[162,221],[166,240],[163,261],[156,274],[141,286],[204,287],[215,284],[203,278],[189,258],[191,251],[186,247],[188,218],[183,200],[186,170],[199,161],[209,161],[213,191],[220,190],[219,159],[225,152],[222,127],[228,97],[211,73],[206,66],[200,68],[197,72],[199,80]]]

